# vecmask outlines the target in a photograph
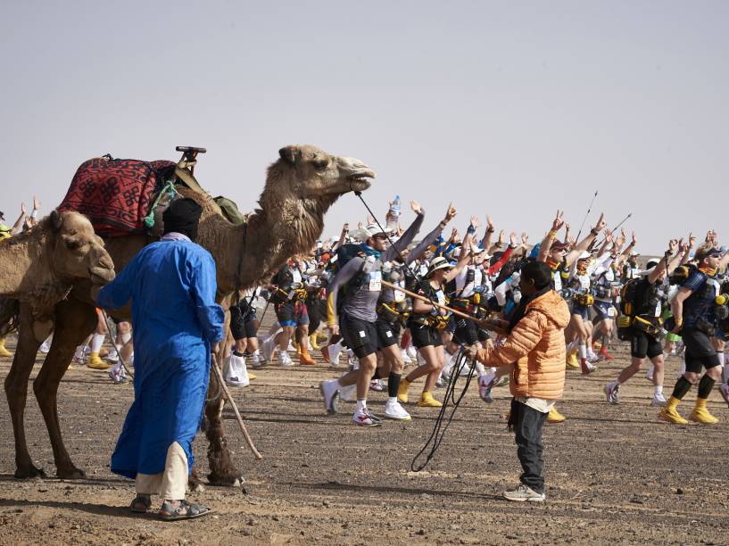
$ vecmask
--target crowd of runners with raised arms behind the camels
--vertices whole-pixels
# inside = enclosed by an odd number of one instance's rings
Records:
[[[32,225],[38,208],[35,199],[32,214],[23,207],[15,226],[3,225],[4,236]],[[313,366],[312,352],[321,352],[332,368],[346,367],[341,376],[321,383],[324,406],[336,413],[340,399],[356,401],[356,425],[382,422],[368,409],[370,390],[387,393],[385,418],[410,420],[408,403],[441,407],[438,388],[471,366],[479,395],[491,402],[493,387],[508,382],[507,370],[459,358],[461,349],[468,356],[501,343],[499,321],[509,320],[521,298],[520,270],[541,261],[571,312],[567,369],[591,374],[601,360],[613,360],[611,344],[629,342],[630,365],[604,388],[609,403],[619,403],[625,382],[648,360],[646,375],[654,385],[650,403],[660,408],[660,418],[685,423],[677,405],[698,384],[689,418],[717,422],[706,401],[718,383],[729,403],[729,368],[724,368],[729,253],[715,232],[700,242],[692,234],[671,239],[664,255],[645,261],[635,234],[611,231],[602,216],[584,236],[573,237],[558,211],[546,236],[532,245],[526,233],[497,232],[489,216],[485,226],[472,216],[461,235],[451,226],[452,205],[432,225],[418,203],[410,202],[410,209],[414,219],[403,228],[398,197],[382,224],[372,217],[356,229],[345,224],[339,236],[318,242],[309,255],[292,256],[269,285],[239,294],[231,308],[235,342],[225,361],[228,385],[248,385],[253,370],[271,363]],[[265,332],[259,331],[264,313],[276,316]],[[79,346],[71,366],[106,369],[114,383],[124,383],[125,370],[134,363],[131,325],[115,324],[100,310],[98,317],[95,334]],[[104,350],[110,328],[112,349]],[[48,351],[50,341],[41,351]],[[667,398],[668,357],[681,359],[681,372]],[[416,390],[420,393],[413,395]],[[547,420],[559,423],[565,417],[552,406]]]

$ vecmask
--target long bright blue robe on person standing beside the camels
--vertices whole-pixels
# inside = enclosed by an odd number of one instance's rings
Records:
[[[186,240],[145,246],[97,305],[130,299],[134,324],[134,396],[112,455],[112,472],[158,474],[170,444],[193,465],[192,442],[203,418],[211,343],[223,339],[225,312],[215,302],[215,262]]]

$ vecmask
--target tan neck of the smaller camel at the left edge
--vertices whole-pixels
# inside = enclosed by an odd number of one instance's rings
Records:
[[[0,244],[0,294],[42,307],[68,292],[69,284],[55,276],[46,236],[19,236]]]

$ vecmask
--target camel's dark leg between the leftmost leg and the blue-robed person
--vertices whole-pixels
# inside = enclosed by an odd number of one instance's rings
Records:
[[[63,445],[61,426],[58,422],[57,395],[58,385],[69,366],[73,352],[79,343],[89,335],[96,326],[96,313],[87,303],[76,300],[60,302],[55,308],[55,333],[51,350],[33,382],[38,405],[51,437],[54,449],[56,476],[66,479],[85,477],[83,470],[75,467],[68,451]]]

